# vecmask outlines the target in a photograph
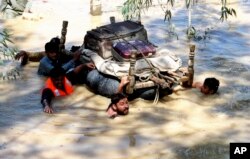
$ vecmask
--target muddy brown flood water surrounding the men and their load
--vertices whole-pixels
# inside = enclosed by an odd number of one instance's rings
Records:
[[[82,44],[85,32],[107,24],[110,15],[117,21],[122,18],[108,11],[91,17],[82,12],[88,10],[86,2],[70,4],[62,1],[52,9],[45,3],[45,18],[17,18],[1,25],[14,33],[18,48],[40,51],[46,41],[60,35],[65,18],[67,47]],[[40,104],[44,79],[36,74],[38,64],[29,63],[21,68],[20,79],[0,82],[0,158],[229,159],[229,143],[250,141],[250,2],[231,6],[237,18],[224,23],[216,3],[197,4],[192,12],[192,25],[201,37],[191,42],[196,44],[194,78],[218,78],[217,94],[204,96],[189,89],[166,96],[157,105],[136,99],[130,102],[129,115],[108,119],[109,99],[77,86],[72,96],[57,99],[55,114],[48,115]],[[59,12],[63,9],[69,14]],[[149,39],[180,56],[185,66],[190,44],[185,36],[187,10],[183,5],[173,10],[178,40],[169,33],[160,10],[151,8],[142,16]]]

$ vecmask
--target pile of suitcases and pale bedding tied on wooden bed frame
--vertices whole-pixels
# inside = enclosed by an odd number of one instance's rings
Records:
[[[170,90],[180,77],[173,72],[181,67],[181,59],[150,43],[139,22],[128,20],[87,31],[82,48],[82,58],[93,61],[99,72],[118,79],[129,76],[127,94],[154,90],[148,95],[152,99],[159,90]]]

